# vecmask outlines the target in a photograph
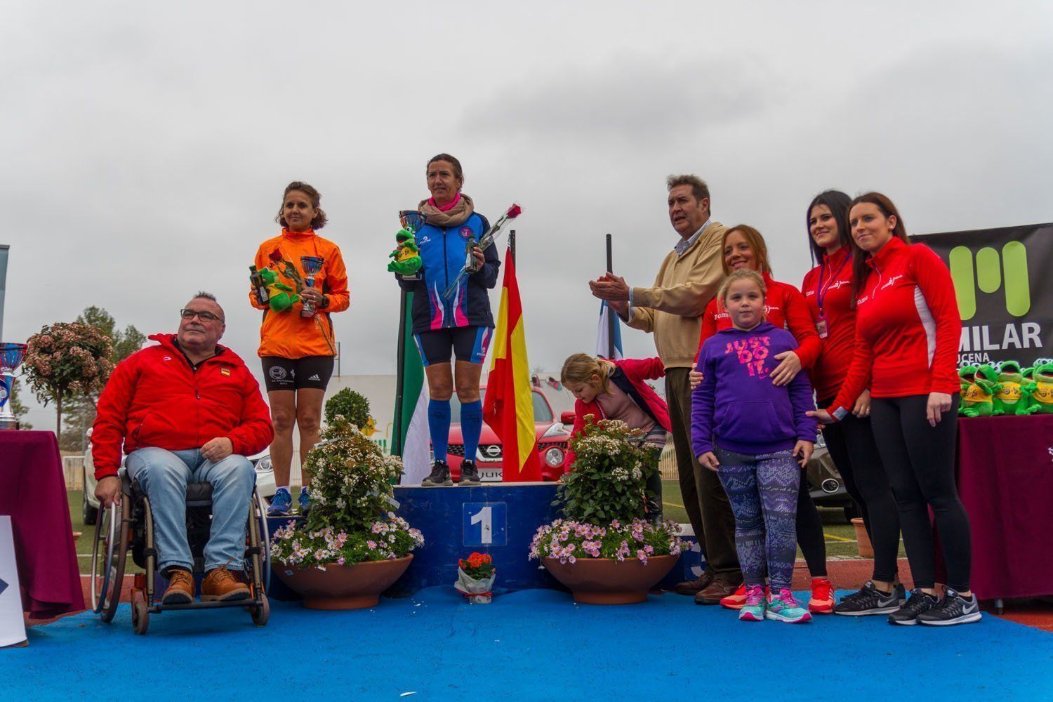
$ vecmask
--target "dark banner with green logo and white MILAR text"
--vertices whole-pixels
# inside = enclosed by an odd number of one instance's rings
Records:
[[[1053,358],[1053,223],[912,237],[951,269],[959,365]]]

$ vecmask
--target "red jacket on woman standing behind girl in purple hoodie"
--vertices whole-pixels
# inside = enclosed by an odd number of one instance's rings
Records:
[[[808,312],[804,296],[790,283],[772,280],[771,274],[763,274],[768,293],[764,295],[764,321],[777,328],[788,328],[797,340],[794,353],[800,359],[800,364],[808,369],[819,358],[822,345],[815,330],[815,322]],[[717,298],[710,300],[702,313],[702,332],[698,335],[698,352],[695,352],[695,366],[698,366],[698,354],[702,343],[717,332],[732,327],[731,316],[724,309],[723,301]]]

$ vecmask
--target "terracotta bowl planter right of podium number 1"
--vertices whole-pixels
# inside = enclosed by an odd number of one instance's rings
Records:
[[[552,576],[571,588],[582,604],[635,604],[648,599],[654,587],[673,569],[679,556],[652,556],[647,565],[637,559],[579,558],[560,563],[558,558],[541,562]]]

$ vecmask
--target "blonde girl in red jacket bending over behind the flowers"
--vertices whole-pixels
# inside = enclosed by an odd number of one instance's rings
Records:
[[[665,445],[670,432],[669,407],[645,380],[663,378],[665,367],[660,358],[618,359],[609,361],[588,354],[574,354],[563,362],[560,382],[576,398],[574,402],[575,437],[584,429],[585,417],[594,421],[620,419],[629,428],[648,433],[645,441],[654,446]],[[567,465],[574,469],[574,454],[567,456]],[[655,502],[648,505],[649,517],[661,521],[661,476],[648,482]]]

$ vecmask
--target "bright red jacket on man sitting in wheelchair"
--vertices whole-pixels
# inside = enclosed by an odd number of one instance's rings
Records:
[[[118,363],[99,398],[92,429],[97,479],[117,475],[122,443],[125,454],[200,448],[217,437],[242,456],[266,448],[274,439],[271,410],[237,354],[217,346],[194,370],[174,334],[150,338],[158,345]]]

